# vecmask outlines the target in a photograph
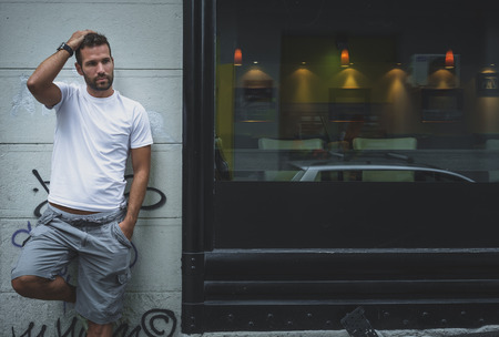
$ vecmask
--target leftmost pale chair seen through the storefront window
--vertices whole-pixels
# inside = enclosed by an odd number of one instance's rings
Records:
[[[273,140],[259,139],[259,150],[323,150],[323,140]],[[266,181],[291,181],[297,171],[265,171]]]

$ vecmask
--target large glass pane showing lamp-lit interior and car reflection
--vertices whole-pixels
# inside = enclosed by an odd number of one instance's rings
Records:
[[[498,182],[496,8],[218,0],[216,178]]]

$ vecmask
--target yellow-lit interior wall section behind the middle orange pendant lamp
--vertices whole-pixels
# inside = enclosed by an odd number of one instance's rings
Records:
[[[395,40],[349,38],[348,49],[354,64],[342,68],[335,37],[284,37],[281,102],[327,103],[329,88],[373,88],[371,102],[385,102]]]

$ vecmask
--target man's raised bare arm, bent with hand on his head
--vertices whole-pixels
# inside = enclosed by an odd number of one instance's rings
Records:
[[[91,30],[77,31],[68,40],[67,44],[77,50],[83,38]],[[61,91],[53,84],[57,75],[61,72],[70,54],[65,50],[59,50],[45,59],[28,79],[28,89],[40,103],[53,106],[61,101]]]

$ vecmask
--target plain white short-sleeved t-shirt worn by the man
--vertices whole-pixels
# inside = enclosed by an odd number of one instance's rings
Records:
[[[55,84],[62,100],[53,106],[57,126],[49,202],[92,212],[116,210],[125,202],[130,149],[153,143],[147,113],[118,91],[98,99],[85,86]]]

